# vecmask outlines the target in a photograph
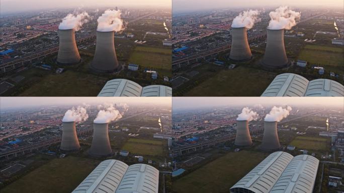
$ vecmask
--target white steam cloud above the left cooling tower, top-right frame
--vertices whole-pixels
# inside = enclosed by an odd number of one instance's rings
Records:
[[[260,12],[258,10],[248,10],[241,12],[238,16],[236,16],[232,22],[232,28],[242,28],[246,27],[247,29],[251,29],[255,22],[261,21],[258,18]]]

